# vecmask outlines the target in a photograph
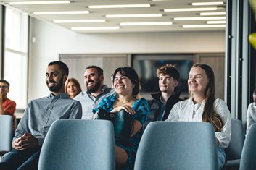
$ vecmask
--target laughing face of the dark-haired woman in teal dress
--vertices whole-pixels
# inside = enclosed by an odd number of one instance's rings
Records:
[[[133,93],[133,83],[128,77],[121,75],[120,72],[115,75],[113,85],[115,92],[120,95],[132,95]]]

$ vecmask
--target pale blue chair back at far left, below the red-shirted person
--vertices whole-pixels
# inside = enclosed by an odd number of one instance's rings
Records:
[[[0,115],[0,153],[1,156],[11,150],[12,116]],[[3,153],[3,154],[2,154]]]

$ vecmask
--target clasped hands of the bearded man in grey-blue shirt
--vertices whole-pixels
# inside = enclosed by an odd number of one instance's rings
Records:
[[[15,150],[35,148],[38,145],[38,139],[36,139],[36,137],[33,137],[33,135],[29,133],[24,133],[21,137],[17,138],[12,142],[12,148],[14,148]]]

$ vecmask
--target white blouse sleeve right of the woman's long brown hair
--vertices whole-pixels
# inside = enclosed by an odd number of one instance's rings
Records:
[[[215,111],[223,121],[223,127],[220,132],[215,132],[215,136],[220,142],[219,147],[227,148],[231,140],[231,114],[223,100],[217,99],[215,102]]]

